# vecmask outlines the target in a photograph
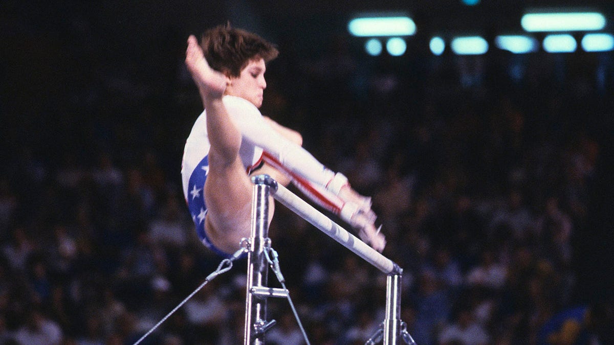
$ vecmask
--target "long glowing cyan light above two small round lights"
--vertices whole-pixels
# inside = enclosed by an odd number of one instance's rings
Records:
[[[416,33],[416,24],[410,17],[362,17],[348,23],[353,36],[411,36]]]

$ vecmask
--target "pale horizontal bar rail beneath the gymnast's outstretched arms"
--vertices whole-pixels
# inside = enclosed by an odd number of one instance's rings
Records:
[[[344,247],[348,248],[380,271],[386,274],[403,274],[403,269],[392,260],[384,257],[384,255],[380,254],[377,250],[371,248],[365,242],[349,233],[348,230],[345,230],[343,227],[333,222],[326,215],[322,214],[322,212],[317,211],[317,209],[308,204],[305,200],[290,192],[283,185],[278,184],[277,181],[270,176],[258,175],[255,176],[253,180],[258,183],[269,185],[271,195],[273,195],[275,200],[300,215],[301,218],[323,231],[335,241],[343,244]]]

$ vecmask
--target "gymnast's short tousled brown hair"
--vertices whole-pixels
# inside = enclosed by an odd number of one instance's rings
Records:
[[[252,60],[265,63],[279,54],[277,48],[257,34],[243,29],[219,25],[204,32],[201,47],[209,66],[229,77],[238,77]]]

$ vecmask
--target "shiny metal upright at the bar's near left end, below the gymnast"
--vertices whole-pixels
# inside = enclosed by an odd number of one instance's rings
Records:
[[[268,241],[268,206],[269,186],[265,180],[268,176],[257,176],[252,197],[252,229],[247,253],[247,293],[245,314],[245,345],[264,344],[264,333],[270,327],[266,323],[266,298],[252,293],[254,288],[266,287],[268,279],[268,262],[264,254]]]

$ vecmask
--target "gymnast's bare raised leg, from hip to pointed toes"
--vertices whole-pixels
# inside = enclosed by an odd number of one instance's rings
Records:
[[[209,67],[194,36],[188,38],[185,64],[207,110],[211,142],[209,173],[204,185],[208,207],[205,231],[214,246],[233,253],[241,238],[249,237],[252,183],[239,157],[241,133],[230,121],[222,102],[228,79]]]

